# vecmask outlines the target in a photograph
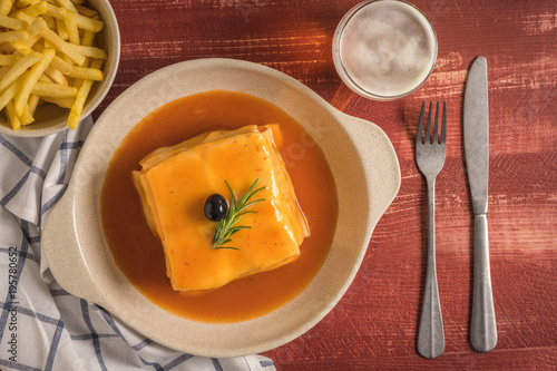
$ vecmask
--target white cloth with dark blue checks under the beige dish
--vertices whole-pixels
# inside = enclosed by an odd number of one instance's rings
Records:
[[[42,138],[0,135],[0,370],[275,370],[255,354],[209,359],[167,349],[57,284],[41,227],[91,127],[89,117]]]

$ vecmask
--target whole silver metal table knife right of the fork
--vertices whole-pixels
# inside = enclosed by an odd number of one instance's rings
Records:
[[[470,342],[489,352],[497,344],[488,240],[489,105],[487,61],[470,68],[465,94],[465,157],[473,206],[473,297]]]

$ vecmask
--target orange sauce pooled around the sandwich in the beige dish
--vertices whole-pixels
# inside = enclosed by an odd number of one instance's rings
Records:
[[[307,218],[311,236],[300,246],[300,256],[294,262],[274,271],[256,273],[213,291],[174,291],[166,275],[163,245],[147,225],[131,172],[140,169],[139,160],[156,148],[176,145],[205,131],[253,124],[280,125],[283,137],[277,140],[277,147]],[[223,323],[270,313],[307,286],[329,253],[336,225],[338,198],[322,150],[297,121],[261,98],[213,90],[168,102],[129,131],[108,166],[101,212],[116,264],[143,295],[174,314]]]

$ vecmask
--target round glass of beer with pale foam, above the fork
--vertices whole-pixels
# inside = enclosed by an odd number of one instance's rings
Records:
[[[333,60],[359,95],[393,100],[417,90],[433,70],[437,36],[428,18],[399,0],[364,1],[340,21]]]

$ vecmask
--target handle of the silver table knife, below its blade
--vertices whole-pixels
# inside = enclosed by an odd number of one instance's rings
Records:
[[[489,352],[497,344],[487,215],[473,219],[473,299],[470,342],[479,352]]]

